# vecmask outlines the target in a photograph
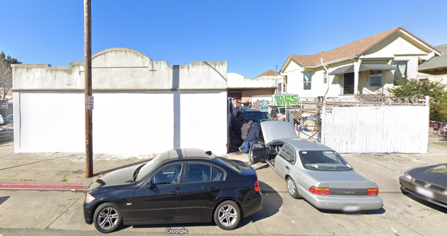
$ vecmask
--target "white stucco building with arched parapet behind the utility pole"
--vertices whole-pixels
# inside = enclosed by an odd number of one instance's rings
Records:
[[[92,56],[93,151],[227,151],[227,64],[169,65],[129,48]],[[84,63],[13,64],[14,151],[83,152]],[[206,102],[204,102],[206,101]],[[198,112],[206,105],[206,116]]]

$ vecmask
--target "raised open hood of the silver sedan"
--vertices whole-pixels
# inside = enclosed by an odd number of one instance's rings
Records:
[[[262,135],[266,143],[276,139],[298,138],[297,132],[291,123],[287,121],[264,121],[261,122]]]

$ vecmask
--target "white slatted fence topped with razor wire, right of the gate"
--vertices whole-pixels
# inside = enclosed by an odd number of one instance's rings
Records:
[[[427,153],[429,106],[332,107],[321,142],[340,153]]]

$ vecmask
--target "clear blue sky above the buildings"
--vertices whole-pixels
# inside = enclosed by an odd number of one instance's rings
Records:
[[[130,47],[169,64],[228,61],[254,78],[396,26],[447,44],[447,1],[92,0],[92,52]],[[82,0],[1,2],[0,51],[23,63],[83,61]]]

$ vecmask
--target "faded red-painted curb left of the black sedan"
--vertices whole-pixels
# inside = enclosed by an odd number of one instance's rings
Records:
[[[59,183],[59,182],[26,182],[26,181],[10,181],[0,182],[0,189],[2,190],[18,190],[18,189],[32,189],[32,190],[73,190],[87,191],[89,186],[84,183]]]

